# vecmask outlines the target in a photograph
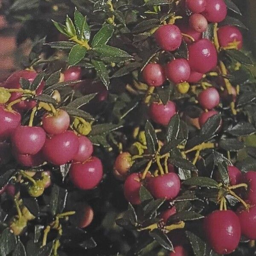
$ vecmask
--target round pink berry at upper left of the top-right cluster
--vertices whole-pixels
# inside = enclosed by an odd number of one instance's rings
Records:
[[[182,42],[180,29],[175,25],[163,25],[154,33],[158,46],[165,51],[175,51]]]

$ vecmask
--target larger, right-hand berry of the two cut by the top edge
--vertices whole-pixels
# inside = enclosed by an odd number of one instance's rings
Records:
[[[227,16],[227,6],[224,0],[206,0],[206,8],[202,13],[209,22],[221,22]]]

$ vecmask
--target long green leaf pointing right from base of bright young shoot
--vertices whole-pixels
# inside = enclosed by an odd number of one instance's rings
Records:
[[[105,60],[105,58],[108,58],[109,61],[123,62],[133,59],[133,57],[127,52],[105,44],[94,47],[93,50],[97,52],[103,58],[103,60]]]

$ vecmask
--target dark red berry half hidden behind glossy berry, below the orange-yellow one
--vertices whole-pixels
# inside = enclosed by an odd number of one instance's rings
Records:
[[[133,173],[127,177],[124,183],[124,195],[128,202],[134,205],[141,203],[140,201],[140,175]]]

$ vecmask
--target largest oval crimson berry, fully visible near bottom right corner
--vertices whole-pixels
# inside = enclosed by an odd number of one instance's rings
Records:
[[[232,253],[241,238],[241,226],[236,213],[215,211],[204,219],[204,231],[212,249],[219,254]]]

